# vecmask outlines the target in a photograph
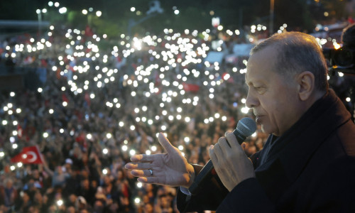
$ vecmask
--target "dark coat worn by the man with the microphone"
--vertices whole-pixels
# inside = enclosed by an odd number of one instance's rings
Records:
[[[231,192],[218,178],[198,195],[179,192],[180,212],[355,212],[355,125],[332,90],[273,137],[251,157],[256,178]]]

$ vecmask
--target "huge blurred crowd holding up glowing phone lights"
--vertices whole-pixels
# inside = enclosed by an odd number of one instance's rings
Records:
[[[206,33],[122,35],[103,50],[99,35],[67,28],[1,41],[6,70],[35,68],[38,87],[1,93],[0,212],[178,212],[177,188],[137,182],[124,165],[163,153],[159,132],[204,165],[207,148],[251,116],[245,65],[205,62]],[[226,51],[240,42],[224,39]],[[244,151],[266,138],[258,126]],[[26,146],[39,147],[43,164],[11,163]]]

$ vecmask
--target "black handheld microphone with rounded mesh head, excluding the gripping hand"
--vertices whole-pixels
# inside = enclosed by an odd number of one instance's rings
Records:
[[[238,121],[236,124],[236,129],[233,133],[236,136],[236,139],[239,144],[243,143],[246,137],[251,136],[256,131],[256,123],[251,118],[244,118]],[[226,141],[229,145],[228,141]],[[197,195],[198,192],[202,189],[205,182],[211,180],[213,175],[216,175],[216,170],[214,170],[212,160],[209,160],[206,165],[202,168],[200,173],[196,176],[195,181],[189,187],[189,191],[192,195]]]

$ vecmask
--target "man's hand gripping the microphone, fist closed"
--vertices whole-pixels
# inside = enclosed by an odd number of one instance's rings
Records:
[[[239,182],[255,177],[253,164],[236,141],[234,133],[229,132],[226,133],[226,137],[219,138],[218,143],[209,148],[209,156],[214,169],[229,192]]]

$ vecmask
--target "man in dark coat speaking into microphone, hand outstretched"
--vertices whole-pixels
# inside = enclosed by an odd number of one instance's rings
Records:
[[[126,168],[138,181],[180,186],[181,212],[355,212],[355,125],[328,88],[315,38],[291,32],[259,43],[246,84],[246,106],[270,134],[250,160],[227,132],[209,148],[218,177],[189,195],[201,167],[187,163],[160,133],[167,153],[134,155]]]

